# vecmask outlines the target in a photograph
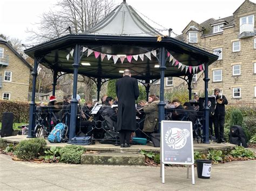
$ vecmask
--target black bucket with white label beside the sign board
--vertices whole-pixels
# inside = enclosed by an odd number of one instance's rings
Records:
[[[196,164],[197,164],[197,177],[199,179],[210,179],[212,161],[199,159],[199,160],[196,160]]]

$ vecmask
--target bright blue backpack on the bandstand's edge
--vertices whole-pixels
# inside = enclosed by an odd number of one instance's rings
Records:
[[[51,130],[47,139],[50,143],[60,143],[65,140],[67,133],[68,126],[64,123],[59,123]]]

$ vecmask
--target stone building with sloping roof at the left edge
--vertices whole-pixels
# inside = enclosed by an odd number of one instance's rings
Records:
[[[6,40],[0,38],[0,99],[28,101],[32,67]]]

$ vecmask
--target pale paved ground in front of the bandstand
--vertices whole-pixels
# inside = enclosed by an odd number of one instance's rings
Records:
[[[186,168],[37,164],[0,154],[0,190],[255,190],[256,160],[213,165],[211,179],[192,185]],[[196,171],[195,171],[196,172]]]

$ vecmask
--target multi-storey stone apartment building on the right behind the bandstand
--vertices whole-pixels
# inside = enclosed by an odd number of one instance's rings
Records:
[[[208,91],[223,90],[230,103],[256,103],[256,4],[245,0],[232,16],[210,18],[199,24],[191,20],[179,40],[219,55],[209,67]],[[193,77],[193,93],[203,93],[204,73]],[[184,80],[166,78],[165,89],[186,86]]]

